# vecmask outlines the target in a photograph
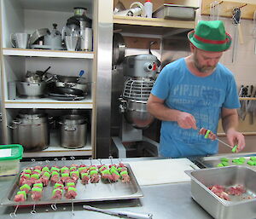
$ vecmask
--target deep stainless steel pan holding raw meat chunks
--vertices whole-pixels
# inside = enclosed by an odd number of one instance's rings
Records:
[[[214,218],[247,219],[256,217],[256,198],[242,199],[234,196],[230,201],[219,198],[208,187],[243,185],[244,195],[256,197],[256,171],[244,166],[186,170],[191,177],[191,196]]]

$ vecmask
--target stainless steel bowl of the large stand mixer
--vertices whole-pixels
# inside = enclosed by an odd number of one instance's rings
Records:
[[[154,122],[154,117],[147,111],[147,101],[127,101],[125,119],[134,128],[144,130]]]

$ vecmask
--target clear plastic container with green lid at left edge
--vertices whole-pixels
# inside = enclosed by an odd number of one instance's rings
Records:
[[[18,174],[22,155],[21,145],[0,145],[0,176]]]

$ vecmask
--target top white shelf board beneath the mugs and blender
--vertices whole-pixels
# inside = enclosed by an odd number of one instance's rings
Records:
[[[67,51],[67,50],[46,50],[46,49],[16,49],[3,48],[3,55],[15,55],[26,57],[55,57],[55,58],[76,58],[93,59],[94,52]]]

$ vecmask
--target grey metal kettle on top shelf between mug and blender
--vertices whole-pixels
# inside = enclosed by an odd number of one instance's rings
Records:
[[[57,30],[57,24],[52,24],[53,30],[44,36],[44,45],[49,49],[61,49],[61,32]]]

